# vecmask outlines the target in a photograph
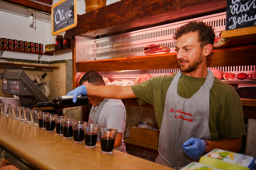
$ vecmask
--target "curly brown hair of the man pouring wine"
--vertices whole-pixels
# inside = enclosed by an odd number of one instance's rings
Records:
[[[187,24],[177,28],[173,38],[174,40],[177,40],[181,36],[190,32],[198,32],[197,40],[200,43],[201,48],[207,44],[213,45],[215,39],[214,28],[203,21],[190,21]]]

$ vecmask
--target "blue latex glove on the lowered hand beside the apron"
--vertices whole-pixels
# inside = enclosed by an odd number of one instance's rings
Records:
[[[194,137],[185,141],[182,147],[185,154],[192,159],[199,159],[205,151],[204,141]]]

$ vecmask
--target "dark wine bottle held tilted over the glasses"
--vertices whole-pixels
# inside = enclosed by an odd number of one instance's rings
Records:
[[[73,96],[57,96],[49,102],[36,103],[37,108],[52,107],[55,110],[67,110],[86,107],[89,104],[87,96],[78,96],[76,103],[73,103]]]

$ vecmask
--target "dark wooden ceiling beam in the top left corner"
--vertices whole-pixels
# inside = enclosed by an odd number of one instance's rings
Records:
[[[30,1],[30,0],[2,0],[2,1],[7,2],[9,4],[18,5],[18,6],[27,8],[27,9],[51,14],[52,7],[49,5],[46,5],[46,4],[41,4],[41,3]],[[46,0],[46,1],[48,1],[48,0]]]

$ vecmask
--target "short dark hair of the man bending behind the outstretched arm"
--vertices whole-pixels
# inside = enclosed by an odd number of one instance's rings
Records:
[[[84,82],[88,81],[88,83],[90,83],[91,85],[94,86],[103,86],[106,85],[102,76],[97,73],[96,71],[89,71],[86,72],[83,77],[80,79],[79,81],[79,86],[83,85]]]

